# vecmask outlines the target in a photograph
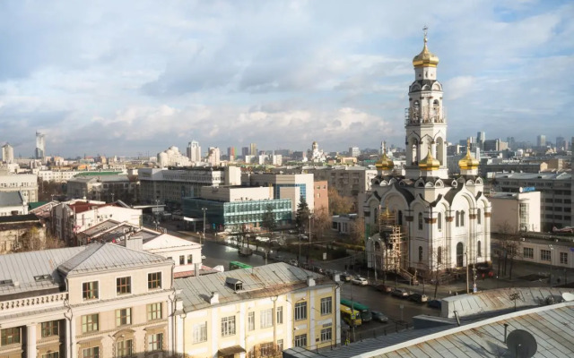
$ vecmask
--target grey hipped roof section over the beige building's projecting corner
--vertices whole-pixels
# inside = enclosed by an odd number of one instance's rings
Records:
[[[84,251],[60,264],[58,270],[65,275],[74,275],[161,263],[171,263],[171,260],[160,255],[127,249],[114,243],[91,243]]]

